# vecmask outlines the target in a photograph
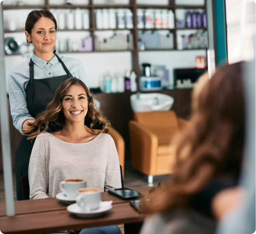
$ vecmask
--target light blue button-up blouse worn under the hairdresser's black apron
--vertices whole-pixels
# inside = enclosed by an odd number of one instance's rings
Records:
[[[57,51],[55,53],[64,62],[72,76],[81,79],[86,84],[82,63],[77,59],[61,56]],[[66,74],[56,56],[47,62],[33,53],[31,59],[34,62],[34,79],[51,78]],[[8,78],[10,112],[13,119],[13,125],[20,133],[22,133],[23,122],[26,119],[34,119],[29,114],[26,105],[25,88],[29,81],[29,60],[30,58],[12,69]]]

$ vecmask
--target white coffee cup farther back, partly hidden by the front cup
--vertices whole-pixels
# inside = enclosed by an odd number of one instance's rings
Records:
[[[59,183],[60,190],[70,199],[75,199],[77,196],[76,190],[84,187],[86,187],[86,179],[84,178],[66,179]]]

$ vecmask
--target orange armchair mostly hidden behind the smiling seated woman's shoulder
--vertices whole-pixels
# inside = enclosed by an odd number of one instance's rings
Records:
[[[112,136],[119,157],[119,164],[122,166],[122,175],[124,176],[124,140],[120,133],[113,127],[109,127],[109,135]]]

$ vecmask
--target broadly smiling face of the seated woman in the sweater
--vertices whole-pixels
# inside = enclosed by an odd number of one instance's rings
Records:
[[[62,111],[70,122],[84,122],[88,111],[86,91],[80,85],[72,85],[62,100]]]

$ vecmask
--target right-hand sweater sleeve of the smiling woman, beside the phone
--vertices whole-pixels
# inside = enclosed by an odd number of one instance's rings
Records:
[[[110,135],[109,135],[110,136]],[[113,138],[109,137],[108,143],[108,160],[106,165],[104,190],[115,189],[121,187],[121,173],[119,158],[114,144]]]

